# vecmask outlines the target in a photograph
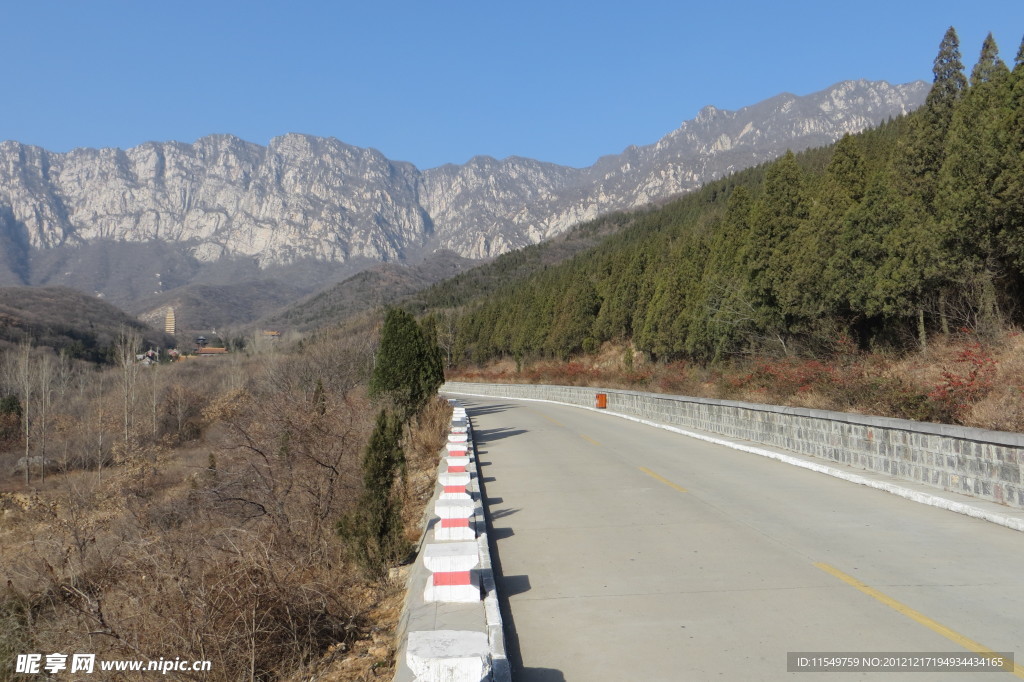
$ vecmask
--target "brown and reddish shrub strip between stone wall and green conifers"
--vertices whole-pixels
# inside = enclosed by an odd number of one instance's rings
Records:
[[[1024,430],[1024,336],[961,332],[905,354],[858,351],[840,339],[828,359],[740,357],[712,367],[650,363],[630,347],[568,363],[512,360],[449,371],[453,381],[603,386]]]

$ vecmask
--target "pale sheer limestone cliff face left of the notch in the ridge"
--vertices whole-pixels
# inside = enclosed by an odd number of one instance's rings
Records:
[[[374,150],[294,134],[265,147],[227,135],[68,154],[0,143],[6,227],[35,249],[161,240],[200,260],[392,260],[430,231],[418,177]]]

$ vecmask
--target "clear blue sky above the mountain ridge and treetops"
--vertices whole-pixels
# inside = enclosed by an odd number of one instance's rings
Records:
[[[954,26],[1012,65],[1022,0],[0,0],[0,139],[54,152],[333,136],[431,168],[587,166],[701,106],[931,80]]]

